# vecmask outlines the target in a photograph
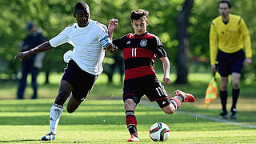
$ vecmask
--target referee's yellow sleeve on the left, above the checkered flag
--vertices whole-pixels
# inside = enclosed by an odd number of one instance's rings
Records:
[[[210,24],[210,64],[214,65],[218,53],[218,37],[214,22]]]

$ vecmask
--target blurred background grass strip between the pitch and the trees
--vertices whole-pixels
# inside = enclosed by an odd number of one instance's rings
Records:
[[[162,81],[162,74],[158,74],[158,78]],[[44,85],[45,77],[43,74],[38,76],[38,98],[55,98],[58,94],[59,81],[62,78],[62,74],[51,74],[50,75],[50,84]],[[176,79],[175,74],[171,74],[172,83],[166,85],[166,92],[173,95],[174,90],[186,90],[194,94],[198,98],[204,98],[206,93],[206,87],[210,82],[211,74],[209,73],[191,73],[189,74],[189,84],[187,85],[175,85],[174,80]],[[122,98],[122,82],[119,82],[120,79],[118,74],[114,74],[113,84],[107,84],[106,74],[99,75],[94,89],[90,93],[88,98],[90,99],[121,99]],[[27,80],[28,84],[26,86],[25,98],[30,98],[33,94],[33,90],[30,85],[30,77]],[[217,75],[218,86],[220,83],[220,78]],[[14,99],[16,98],[18,83],[16,82],[1,82],[0,81],[0,99]],[[254,98],[254,83],[242,83],[241,84],[241,95],[245,95],[246,98]],[[231,92],[232,86],[229,86],[229,92]]]

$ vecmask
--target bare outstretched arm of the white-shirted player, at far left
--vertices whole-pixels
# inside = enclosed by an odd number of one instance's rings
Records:
[[[50,46],[50,42],[44,42],[41,45],[39,45],[39,46],[37,46],[33,49],[18,53],[17,55],[15,55],[14,58],[30,58],[30,56],[32,54],[36,54],[38,52],[43,52],[43,51],[46,51],[46,50],[50,50],[52,48],[54,48],[54,47]]]

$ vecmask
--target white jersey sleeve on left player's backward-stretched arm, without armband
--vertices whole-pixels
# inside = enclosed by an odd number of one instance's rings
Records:
[[[68,32],[69,32],[70,26],[66,27],[64,30],[62,30],[61,33],[59,33],[57,36],[54,38],[50,39],[50,46],[57,47],[60,46],[66,42],[69,42],[68,38]]]

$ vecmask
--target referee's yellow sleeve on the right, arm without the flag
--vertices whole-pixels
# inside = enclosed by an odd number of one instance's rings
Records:
[[[250,32],[246,26],[246,22],[243,19],[241,19],[239,27],[240,27],[240,32],[242,33],[242,38],[245,45],[246,58],[251,58],[252,52],[251,52]]]

